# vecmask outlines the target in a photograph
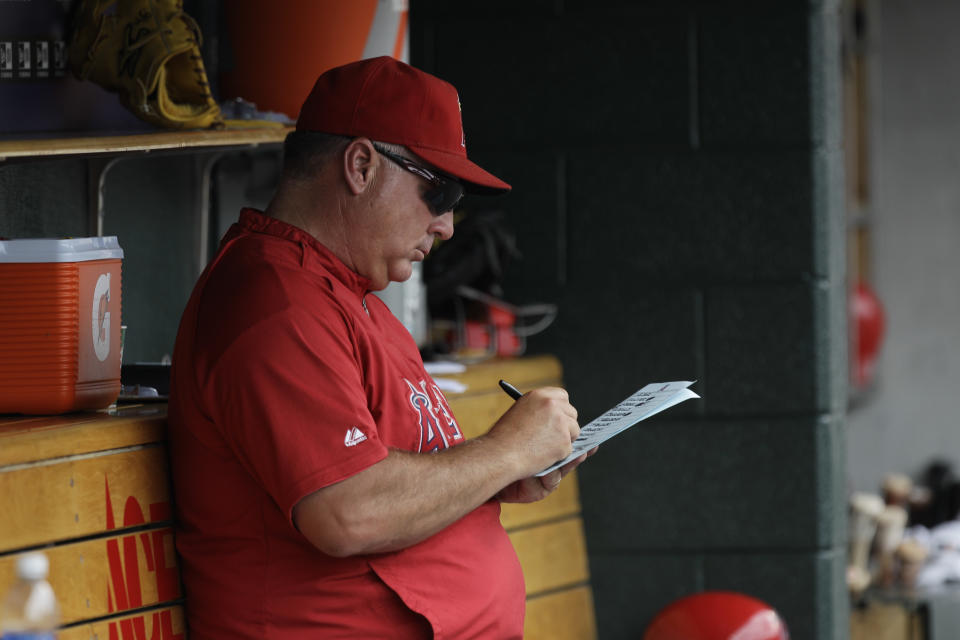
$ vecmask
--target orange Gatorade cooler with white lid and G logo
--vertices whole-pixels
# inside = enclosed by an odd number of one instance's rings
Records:
[[[117,399],[122,260],[116,236],[0,241],[0,413]]]

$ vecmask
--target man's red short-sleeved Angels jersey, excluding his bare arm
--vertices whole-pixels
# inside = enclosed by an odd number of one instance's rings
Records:
[[[293,525],[300,499],[388,448],[464,439],[368,286],[313,237],[248,209],[193,291],[170,395],[193,640],[522,637],[523,576],[494,500],[392,553],[334,558]]]

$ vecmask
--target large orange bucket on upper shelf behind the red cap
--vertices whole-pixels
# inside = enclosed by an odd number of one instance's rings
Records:
[[[234,0],[224,18],[232,68],[220,73],[220,98],[243,98],[292,119],[327,69],[408,57],[406,2],[397,0]]]

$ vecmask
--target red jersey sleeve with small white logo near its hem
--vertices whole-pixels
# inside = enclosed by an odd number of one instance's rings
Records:
[[[201,384],[224,440],[291,522],[300,499],[387,455],[335,309],[290,307],[247,327]]]

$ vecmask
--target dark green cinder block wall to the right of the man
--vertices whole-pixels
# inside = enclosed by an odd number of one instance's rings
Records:
[[[512,182],[508,298],[555,301],[584,420],[650,381],[704,399],[581,470],[601,638],[745,592],[847,636],[839,18],[830,0],[412,0],[412,62],[460,89]]]

